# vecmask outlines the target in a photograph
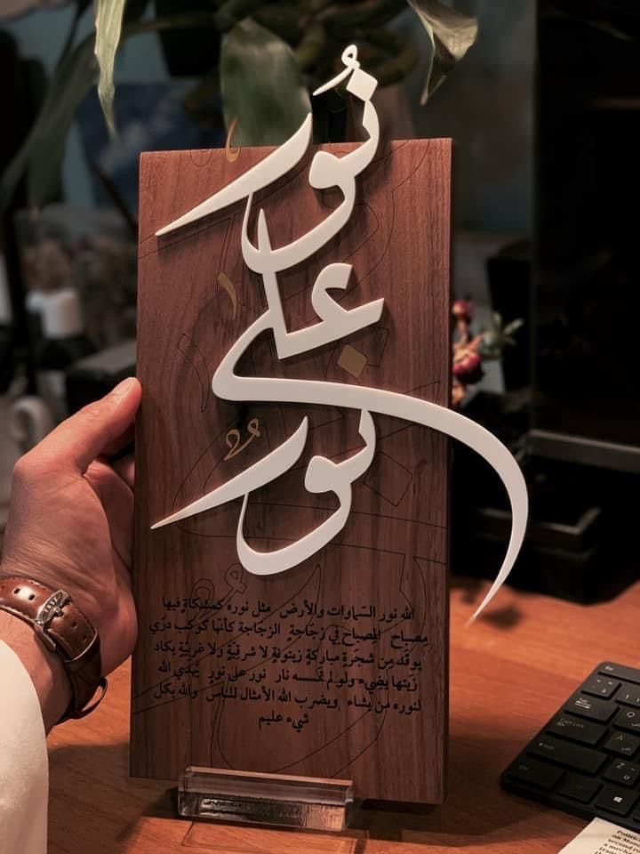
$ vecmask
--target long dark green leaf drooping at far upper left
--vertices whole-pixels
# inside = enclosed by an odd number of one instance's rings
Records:
[[[56,188],[68,129],[76,109],[95,83],[96,71],[93,36],[87,36],[60,60],[35,125],[4,171],[0,181],[0,210],[11,201],[25,171],[29,205],[41,205]]]

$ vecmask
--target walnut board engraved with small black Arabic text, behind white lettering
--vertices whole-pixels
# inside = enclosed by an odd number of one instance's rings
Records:
[[[323,148],[339,156],[353,144]],[[177,779],[188,765],[354,781],[357,797],[441,802],[447,733],[448,440],[375,415],[376,454],[353,484],[348,522],[299,566],[254,576],[239,563],[240,500],[150,526],[257,463],[309,419],[300,461],[252,492],[244,536],[271,551],[316,528],[335,496],[312,495],[312,455],[340,462],[363,446],[359,411],[212,393],[212,373],[266,310],[243,262],[244,202],[185,229],[156,230],[271,149],[144,154],[140,161],[131,771]],[[308,165],[255,198],[274,247],[306,233],[342,197],[316,193]],[[273,334],[245,354],[246,375],[399,391],[447,406],[450,389],[451,143],[381,145],[358,179],[336,238],[279,275],[287,328],[317,321],[310,294],[332,262],[353,264],[337,297],[380,297],[379,323],[290,359]],[[334,294],[336,292],[333,292]]]

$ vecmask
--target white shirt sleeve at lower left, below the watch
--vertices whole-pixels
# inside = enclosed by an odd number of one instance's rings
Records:
[[[36,689],[0,641],[0,854],[46,854],[49,762]]]

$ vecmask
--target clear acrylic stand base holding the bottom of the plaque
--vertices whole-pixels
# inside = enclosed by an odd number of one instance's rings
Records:
[[[178,782],[184,818],[341,831],[352,804],[350,780],[190,766]]]

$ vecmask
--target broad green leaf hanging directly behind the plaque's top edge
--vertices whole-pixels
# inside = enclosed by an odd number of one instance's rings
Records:
[[[311,112],[292,49],[251,18],[222,41],[220,93],[227,130],[237,119],[233,145],[280,145]]]

